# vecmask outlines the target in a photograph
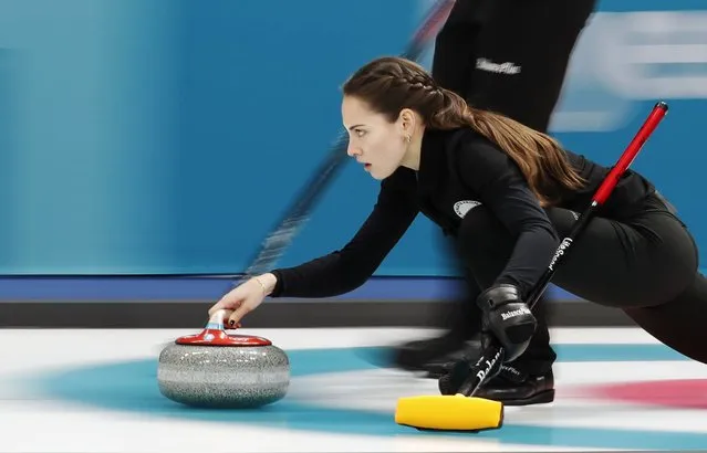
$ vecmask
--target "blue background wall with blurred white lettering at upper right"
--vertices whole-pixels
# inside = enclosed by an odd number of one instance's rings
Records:
[[[0,273],[241,272],[341,130],[341,83],[428,3],[0,1]],[[704,0],[602,1],[553,122],[611,165],[667,99],[635,168],[705,250],[706,30]],[[376,192],[346,168],[281,264],[342,246]],[[378,274],[451,273],[436,236],[419,218]]]

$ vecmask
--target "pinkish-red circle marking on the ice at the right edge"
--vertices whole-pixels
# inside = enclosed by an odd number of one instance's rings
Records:
[[[591,386],[591,397],[684,409],[707,409],[707,379],[677,379]]]

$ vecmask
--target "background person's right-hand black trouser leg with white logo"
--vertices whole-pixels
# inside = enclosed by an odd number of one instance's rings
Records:
[[[464,93],[478,108],[548,133],[572,51],[596,0],[498,0],[477,36]]]

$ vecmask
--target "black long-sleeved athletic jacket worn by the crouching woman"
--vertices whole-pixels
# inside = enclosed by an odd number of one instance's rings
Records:
[[[561,208],[583,211],[607,172],[568,151],[572,165],[589,181],[579,192],[559,193]],[[630,171],[616,186],[603,215],[625,218],[641,208],[653,186]],[[341,250],[299,266],[273,271],[273,297],[327,297],[363,285],[409,228],[418,212],[456,234],[471,202],[487,207],[517,238],[506,268],[496,283],[528,291],[550,263],[559,238],[543,208],[516,164],[497,146],[471,129],[427,130],[419,171],[401,167],[381,183],[373,212]]]

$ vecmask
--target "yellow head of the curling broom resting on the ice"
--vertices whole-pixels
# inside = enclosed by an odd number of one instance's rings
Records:
[[[503,423],[503,404],[462,394],[406,397],[397,401],[395,422],[428,430],[497,429]]]

